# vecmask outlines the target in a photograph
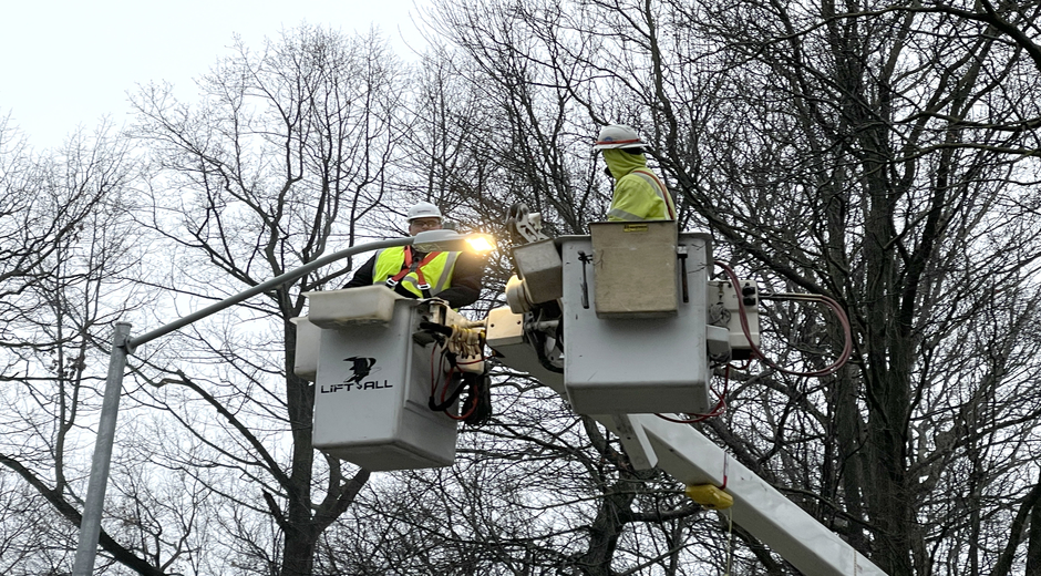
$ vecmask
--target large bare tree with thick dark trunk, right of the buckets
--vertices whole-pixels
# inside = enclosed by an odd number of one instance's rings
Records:
[[[833,453],[834,476],[822,487],[834,491],[854,520],[868,521],[873,557],[884,569],[930,574],[926,542],[931,531],[923,524],[971,517],[916,514],[931,496],[915,477],[915,462],[923,451],[930,452],[928,439],[944,432],[948,419],[957,421],[961,410],[934,403],[935,390],[982,385],[983,398],[994,402],[1004,395],[999,389],[1009,387],[1024,401],[1032,399],[1003,361],[983,372],[968,369],[967,358],[991,356],[990,346],[967,348],[971,340],[962,338],[946,353],[937,347],[959,327],[992,317],[988,310],[1012,304],[987,286],[1016,286],[1017,299],[1028,302],[1023,312],[1034,313],[1035,288],[1028,279],[1037,238],[1020,227],[1033,215],[1016,200],[1021,178],[1029,182],[1033,167],[1021,156],[996,151],[1019,147],[1010,140],[1018,136],[1000,124],[1034,114],[1029,106],[1011,105],[1008,91],[1025,94],[1037,86],[991,80],[1014,74],[1021,63],[1007,60],[983,29],[903,16],[825,20],[815,29],[808,14],[794,13],[794,7],[791,12],[779,7],[775,13],[748,8],[757,12],[751,21],[735,10],[713,13],[704,23],[715,34],[725,30],[723,38],[750,59],[745,69],[759,71],[733,91],[746,94],[744,102],[756,111],[750,119],[771,120],[749,124],[740,137],[769,145],[761,152],[715,154],[713,161],[722,161],[720,186],[678,179],[690,184],[688,198],[739,248],[739,256],[745,251],[770,270],[764,271],[770,285],[835,295],[851,310],[859,333],[859,369],[838,374],[828,382],[831,390],[822,390],[839,395],[822,412],[818,425],[824,428],[816,433],[834,430],[841,439]],[[938,29],[944,33],[935,35]],[[777,38],[787,40],[771,42]],[[914,64],[921,56],[911,53],[940,53],[940,42],[969,50],[932,56],[930,66]],[[755,85],[754,79],[763,82]],[[969,116],[993,120],[969,126],[962,123]],[[733,134],[733,128],[725,132]],[[763,210],[779,192],[790,198],[786,206]],[[1018,322],[1001,326],[1016,347],[1030,341]],[[963,371],[936,368],[949,366]],[[1000,373],[997,380],[968,377],[993,369]],[[789,402],[813,390],[793,383],[797,388],[780,389]],[[776,436],[780,432],[775,429]],[[980,498],[966,504],[983,507]],[[851,525],[849,537],[866,544],[862,527]],[[979,525],[976,539],[958,546],[969,551],[971,573],[978,573],[982,554],[976,544],[985,536],[980,529],[1000,538],[996,528]]]

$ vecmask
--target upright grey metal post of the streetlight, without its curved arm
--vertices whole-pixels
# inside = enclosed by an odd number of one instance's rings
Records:
[[[97,537],[101,535],[101,514],[105,502],[105,487],[109,483],[109,464],[112,462],[115,421],[120,413],[123,371],[126,369],[130,329],[130,323],[116,322],[115,335],[112,337],[109,376],[105,378],[105,397],[101,404],[101,422],[97,423],[97,440],[94,443],[94,459],[91,462],[91,480],[86,486],[86,501],[83,503],[80,543],[76,547],[75,565],[72,568],[73,576],[91,576],[94,572]]]

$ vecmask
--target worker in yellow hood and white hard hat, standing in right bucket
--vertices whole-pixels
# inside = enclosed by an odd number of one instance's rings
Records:
[[[629,126],[612,124],[600,130],[594,148],[604,153],[607,172],[615,178],[608,220],[674,220],[676,204],[668,188],[647,167],[643,141]]]

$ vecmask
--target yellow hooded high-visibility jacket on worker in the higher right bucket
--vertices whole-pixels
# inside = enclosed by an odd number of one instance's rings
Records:
[[[609,148],[604,151],[604,160],[616,183],[608,220],[676,219],[672,195],[647,167],[646,156]]]

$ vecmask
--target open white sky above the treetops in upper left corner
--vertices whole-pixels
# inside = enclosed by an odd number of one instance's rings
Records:
[[[37,150],[60,146],[104,115],[127,120],[126,93],[192,79],[229,53],[303,22],[343,33],[378,27],[399,56],[421,49],[413,19],[423,0],[0,0],[0,117],[10,114]]]

